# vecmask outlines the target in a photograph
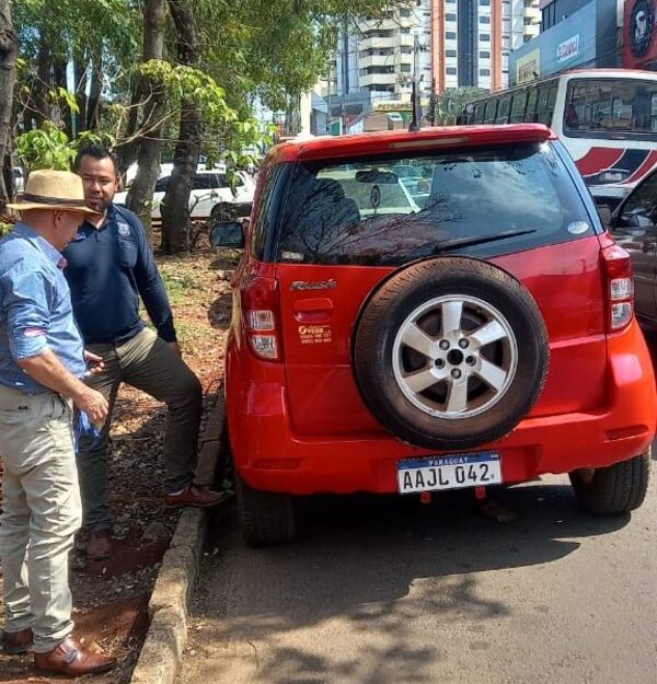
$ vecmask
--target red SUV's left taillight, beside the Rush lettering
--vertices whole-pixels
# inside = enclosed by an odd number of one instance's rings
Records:
[[[281,358],[276,280],[255,276],[242,290],[242,312],[253,352],[267,361]]]

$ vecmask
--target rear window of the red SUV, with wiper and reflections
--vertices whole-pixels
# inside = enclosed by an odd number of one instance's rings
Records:
[[[277,258],[401,265],[442,253],[493,256],[592,235],[550,143],[299,163]]]

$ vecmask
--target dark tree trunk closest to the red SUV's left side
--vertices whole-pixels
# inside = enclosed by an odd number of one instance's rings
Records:
[[[176,35],[178,62],[195,67],[200,57],[194,12],[185,0],[169,0]],[[162,251],[177,254],[189,251],[189,193],[203,142],[203,119],[192,98],[182,103],[178,142],[175,148],[171,183],[162,202]]]

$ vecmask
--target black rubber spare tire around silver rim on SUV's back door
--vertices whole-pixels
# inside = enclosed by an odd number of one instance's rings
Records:
[[[487,404],[482,399],[482,406],[475,410],[460,411],[472,414],[463,417],[459,411],[443,417],[446,413],[437,410],[431,414],[413,404],[395,380],[393,370],[395,337],[397,333],[401,335],[404,322],[423,303],[446,297],[463,297],[471,303],[469,305],[475,301],[485,302],[504,320],[509,331],[508,346],[516,350],[515,371],[507,373],[504,391],[500,390],[498,396]],[[463,325],[473,325],[465,318],[462,321]],[[443,324],[439,322],[438,325],[442,327]],[[480,349],[480,357],[483,356]],[[437,450],[471,449],[510,432],[539,398],[549,360],[548,331],[528,290],[493,264],[465,257],[428,259],[395,273],[364,306],[354,337],[354,372],[372,414],[399,439]],[[465,369],[463,374],[469,378],[469,402],[471,395],[486,391],[485,383],[473,378],[472,370]],[[448,381],[452,382],[451,379]],[[429,393],[437,391],[436,387],[428,389]]]

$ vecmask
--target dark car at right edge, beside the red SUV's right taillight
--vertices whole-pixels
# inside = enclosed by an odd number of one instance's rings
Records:
[[[657,169],[647,175],[606,222],[634,266],[636,315],[657,323]]]

